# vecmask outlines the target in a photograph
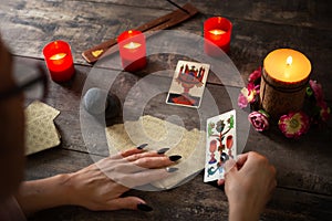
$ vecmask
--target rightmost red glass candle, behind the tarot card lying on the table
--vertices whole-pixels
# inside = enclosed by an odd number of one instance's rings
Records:
[[[232,24],[228,19],[221,17],[212,17],[204,22],[204,50],[210,56],[221,55],[229,52],[230,35]]]

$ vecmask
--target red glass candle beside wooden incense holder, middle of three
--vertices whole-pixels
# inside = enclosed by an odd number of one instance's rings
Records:
[[[125,31],[117,38],[122,66],[127,72],[135,72],[146,66],[145,36],[141,31]]]

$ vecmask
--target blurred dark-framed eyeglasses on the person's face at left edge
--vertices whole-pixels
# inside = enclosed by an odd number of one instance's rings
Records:
[[[0,101],[11,98],[20,93],[24,94],[27,102],[44,99],[46,97],[48,75],[40,64],[31,65],[14,62],[13,78],[15,86],[0,92]]]

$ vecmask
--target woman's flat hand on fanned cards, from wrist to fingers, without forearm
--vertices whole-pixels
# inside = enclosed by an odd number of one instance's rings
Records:
[[[137,209],[145,201],[137,197],[121,197],[131,188],[163,178],[174,162],[157,152],[129,149],[70,175],[70,203],[90,210]],[[138,208],[142,206],[138,206]]]

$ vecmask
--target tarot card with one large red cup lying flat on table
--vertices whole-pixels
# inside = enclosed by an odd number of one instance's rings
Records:
[[[198,108],[209,69],[209,64],[178,61],[166,103]]]

